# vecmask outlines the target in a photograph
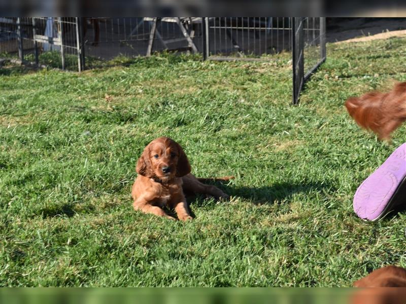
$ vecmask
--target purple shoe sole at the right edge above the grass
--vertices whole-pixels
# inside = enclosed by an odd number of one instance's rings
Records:
[[[362,182],[353,206],[360,218],[374,221],[400,203],[406,203],[406,143]]]

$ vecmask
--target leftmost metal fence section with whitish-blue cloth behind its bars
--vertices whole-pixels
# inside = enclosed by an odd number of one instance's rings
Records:
[[[0,52],[16,53],[21,62],[84,69],[80,17],[0,18]]]

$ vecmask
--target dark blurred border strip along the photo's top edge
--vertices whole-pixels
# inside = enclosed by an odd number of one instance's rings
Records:
[[[0,0],[3,16],[309,16],[406,17],[403,0],[365,2],[326,0],[154,0],[154,1],[39,1]]]

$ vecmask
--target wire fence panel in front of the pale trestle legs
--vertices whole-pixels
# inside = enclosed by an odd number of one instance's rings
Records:
[[[201,17],[86,18],[83,41],[88,66],[164,50],[199,53],[201,30]]]

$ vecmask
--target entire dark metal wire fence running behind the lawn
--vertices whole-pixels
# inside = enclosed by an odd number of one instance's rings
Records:
[[[172,50],[210,60],[272,60],[292,52],[293,103],[325,59],[325,18],[0,17],[0,57],[81,71],[117,56]]]

